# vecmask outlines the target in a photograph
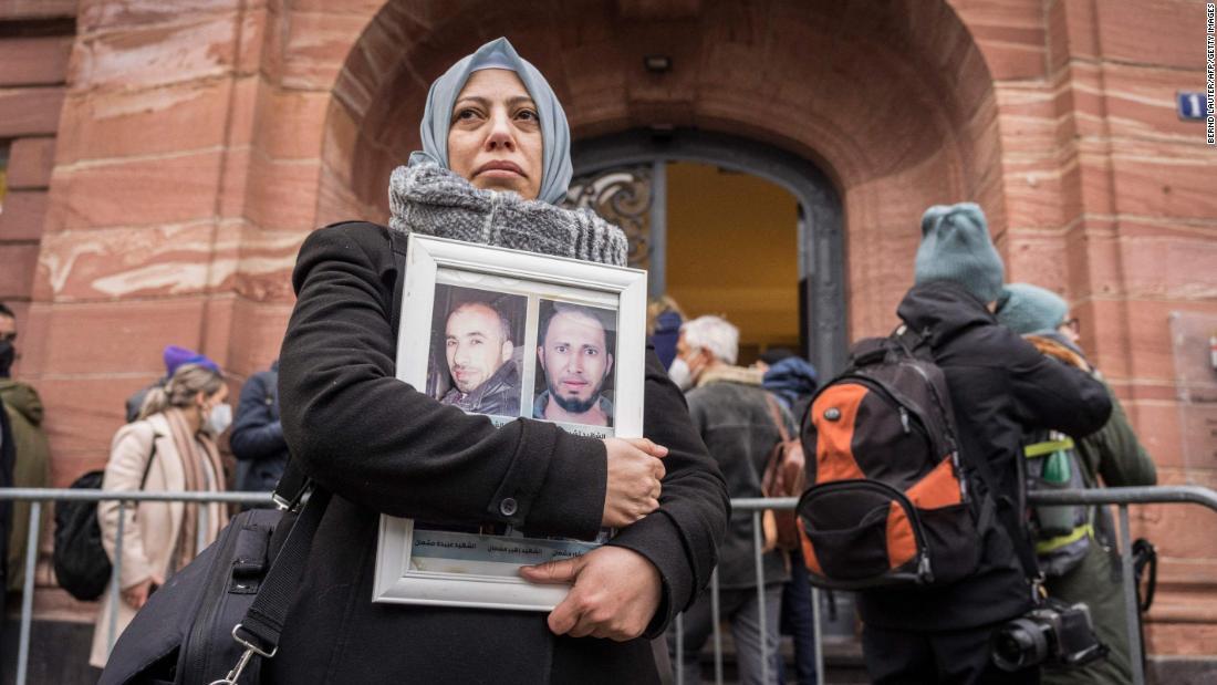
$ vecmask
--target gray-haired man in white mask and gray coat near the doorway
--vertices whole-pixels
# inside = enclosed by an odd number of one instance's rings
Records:
[[[761,477],[780,433],[772,419],[768,393],[761,387],[762,371],[735,366],[739,347],[739,329],[719,316],[700,316],[680,326],[677,358],[669,374],[688,392],[689,415],[723,471],[731,498],[761,498],[764,496]],[[779,411],[793,432],[793,421],[785,410]],[[781,585],[789,577],[783,552],[762,555],[762,612],[752,544],[752,515],[746,511],[733,513],[727,539],[718,552],[719,612],[731,625],[740,659],[740,683],[745,684],[763,683],[765,663],[770,669],[776,667]],[[697,653],[712,630],[711,596],[707,591],[685,612],[685,678],[700,672]],[[668,650],[673,658],[675,646],[675,634],[669,633]],[[770,674],[770,681],[775,675]]]

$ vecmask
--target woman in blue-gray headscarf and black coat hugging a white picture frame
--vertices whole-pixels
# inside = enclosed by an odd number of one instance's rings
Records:
[[[553,204],[571,176],[566,117],[505,39],[432,85],[421,134],[422,151],[391,179],[391,228],[315,231],[292,277],[284,436],[336,496],[268,681],[657,681],[644,636],[660,635],[708,582],[728,500],[655,355],[644,398],[654,442],[587,438],[531,419],[495,428],[394,377],[394,286],[409,232],[607,264],[624,263],[626,238],[590,212]],[[385,605],[371,602],[381,513],[583,539],[601,527],[619,533],[579,558],[522,572],[572,583],[549,616]]]

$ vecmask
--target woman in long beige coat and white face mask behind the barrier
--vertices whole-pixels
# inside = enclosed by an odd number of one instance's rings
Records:
[[[198,364],[179,367],[163,388],[151,391],[140,419],[114,433],[103,490],[204,490],[224,489],[224,467],[215,437],[232,420],[224,403],[228,386],[215,370]],[[146,476],[145,476],[146,473]],[[89,663],[102,668],[110,646],[144,606],[148,595],[184,567],[218,537],[228,520],[224,505],[141,502],[123,507],[123,549],[119,596],[111,589],[101,599],[94,624]],[[119,506],[97,505],[102,545],[116,557]],[[111,638],[111,611],[117,621]]]

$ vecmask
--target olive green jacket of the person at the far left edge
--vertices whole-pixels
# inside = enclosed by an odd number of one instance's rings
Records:
[[[51,481],[51,448],[43,432],[43,400],[33,387],[0,378],[0,400],[12,423],[12,442],[17,461],[12,470],[13,487],[45,488]],[[13,505],[12,532],[9,537],[9,590],[19,590],[26,578],[26,537],[29,534],[29,502]]]

